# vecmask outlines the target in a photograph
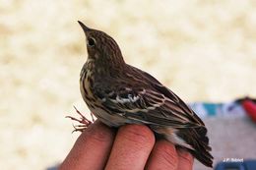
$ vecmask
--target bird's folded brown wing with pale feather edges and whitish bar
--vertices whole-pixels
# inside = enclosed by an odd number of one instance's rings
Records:
[[[178,98],[169,98],[165,96],[164,91],[161,92],[155,88],[117,85],[112,89],[106,89],[96,85],[94,91],[101,104],[111,113],[119,114],[138,123],[172,128],[202,126],[191,121],[191,115],[180,106]]]

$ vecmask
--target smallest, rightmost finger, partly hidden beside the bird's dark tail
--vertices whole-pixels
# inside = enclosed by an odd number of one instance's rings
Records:
[[[194,158],[183,148],[177,149],[178,153],[178,168],[177,170],[192,170]]]

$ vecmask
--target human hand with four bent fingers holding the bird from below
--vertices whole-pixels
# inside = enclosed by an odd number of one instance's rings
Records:
[[[170,142],[155,141],[144,125],[125,125],[116,132],[96,121],[78,138],[59,170],[191,170],[193,157]]]

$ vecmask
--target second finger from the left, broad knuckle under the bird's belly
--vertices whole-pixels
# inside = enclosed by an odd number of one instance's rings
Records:
[[[154,143],[154,133],[147,126],[121,127],[116,135],[105,169],[144,169]]]

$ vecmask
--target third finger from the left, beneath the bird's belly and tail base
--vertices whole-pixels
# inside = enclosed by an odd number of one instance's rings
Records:
[[[175,146],[171,142],[160,140],[156,142],[147,162],[147,169],[176,170],[178,166],[178,155]]]

